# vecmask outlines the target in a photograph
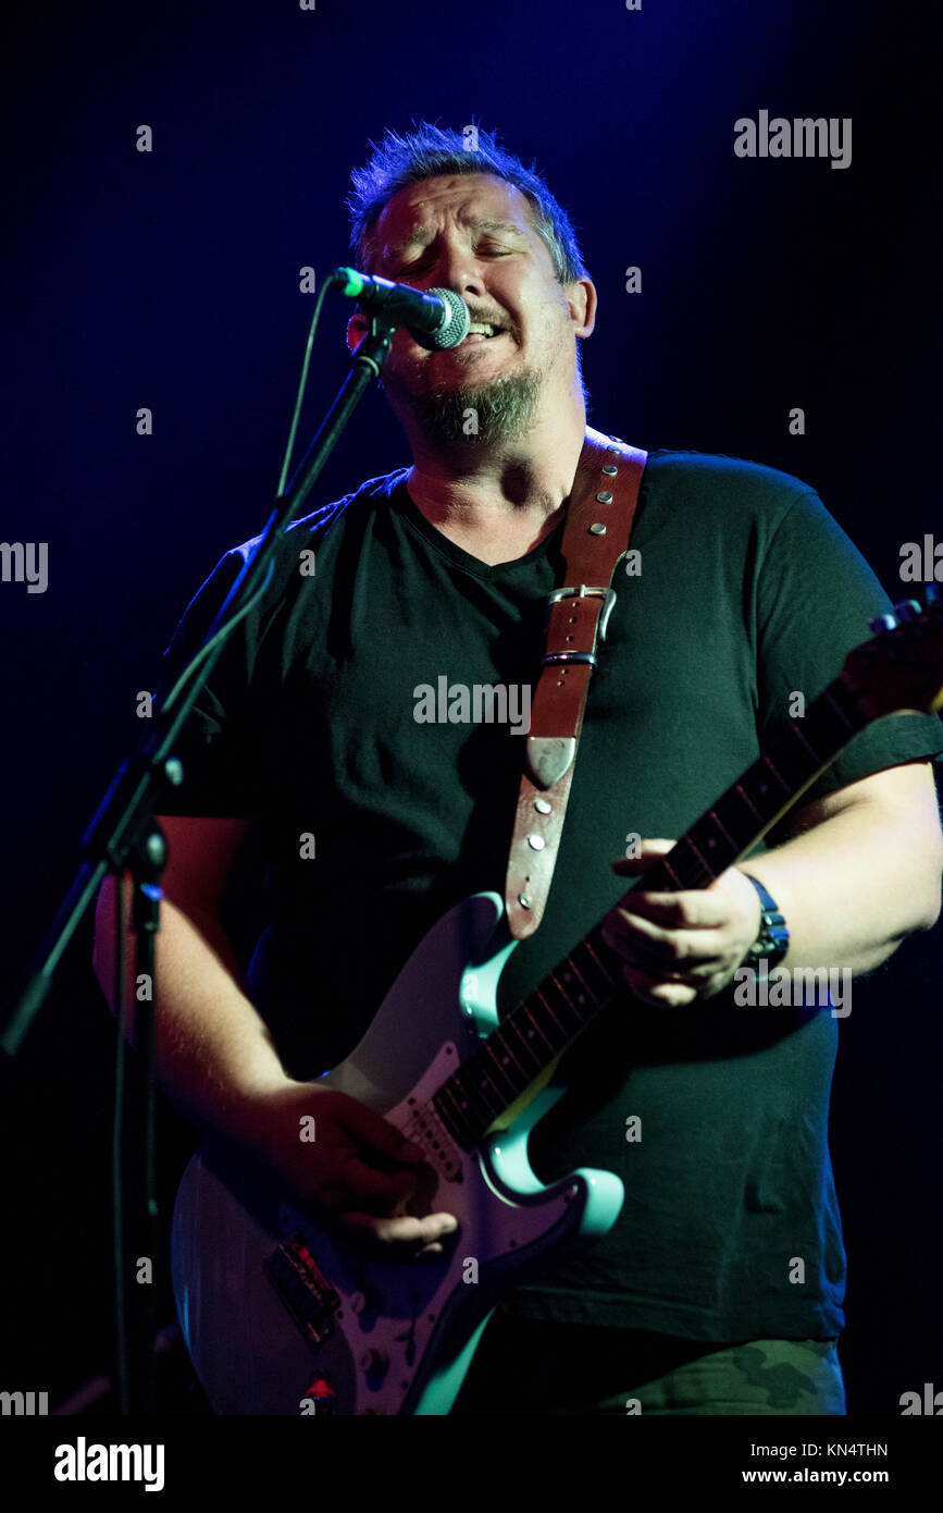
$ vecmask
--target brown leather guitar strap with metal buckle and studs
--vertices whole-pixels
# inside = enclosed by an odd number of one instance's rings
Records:
[[[508,859],[505,908],[515,940],[533,935],[559,850],[597,646],[615,604],[648,452],[586,427],[561,549],[567,583],[547,599],[547,645],[530,705]]]

